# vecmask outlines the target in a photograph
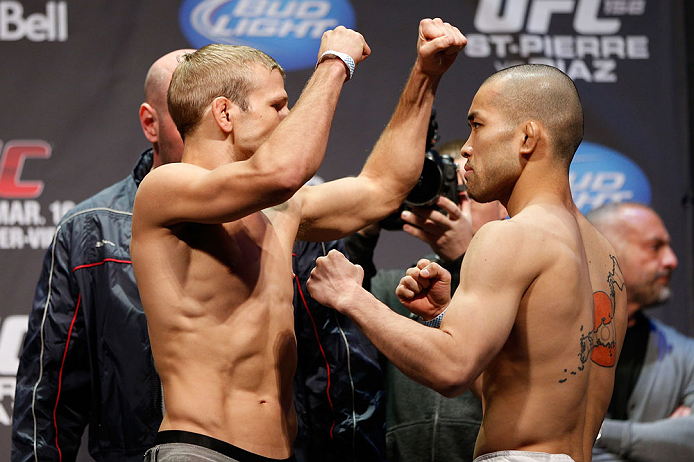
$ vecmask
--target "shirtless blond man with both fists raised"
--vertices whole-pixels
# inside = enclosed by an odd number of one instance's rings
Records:
[[[434,93],[465,37],[422,20],[417,60],[362,172],[318,169],[342,85],[370,49],[344,27],[289,111],[283,71],[248,47],[187,55],[169,88],[182,163],[142,181],[131,253],[166,412],[146,460],[292,459],[295,239],[335,239],[395,210],[422,169]],[[350,67],[352,69],[350,69]]]

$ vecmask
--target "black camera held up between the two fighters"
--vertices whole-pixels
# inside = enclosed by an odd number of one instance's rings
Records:
[[[382,229],[391,231],[402,229],[405,222],[400,218],[400,213],[403,210],[410,210],[411,207],[437,209],[445,214],[445,211],[435,205],[439,196],[447,197],[454,203],[458,203],[458,192],[464,190],[465,185],[458,185],[458,164],[453,158],[448,155],[440,155],[432,149],[438,139],[436,109],[432,109],[427,133],[427,152],[424,157],[422,173],[400,208],[380,221],[379,225]]]

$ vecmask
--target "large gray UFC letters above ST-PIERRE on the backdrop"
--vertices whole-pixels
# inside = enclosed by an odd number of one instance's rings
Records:
[[[506,7],[502,8],[504,3]],[[579,34],[616,34],[622,23],[617,18],[599,18],[601,3],[602,0],[480,0],[474,24],[486,34],[521,32],[527,13],[525,30],[547,34],[554,15],[575,12],[573,26]]]

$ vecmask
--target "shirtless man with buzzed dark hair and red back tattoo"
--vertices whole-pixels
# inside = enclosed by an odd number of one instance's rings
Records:
[[[555,68],[509,68],[482,84],[468,120],[468,193],[500,200],[510,219],[475,234],[452,299],[450,274],[420,261],[396,293],[426,324],[398,316],[361,288],[361,269],[338,252],[318,260],[308,288],[412,379],[445,396],[468,388],[480,396],[476,460],[590,461],[626,296],[614,250],[571,199],[569,164],[583,136],[578,93]]]

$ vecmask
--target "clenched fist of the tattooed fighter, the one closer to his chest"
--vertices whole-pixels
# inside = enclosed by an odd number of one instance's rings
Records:
[[[451,301],[451,273],[423,258],[407,270],[395,295],[412,313],[425,321],[435,318]]]

